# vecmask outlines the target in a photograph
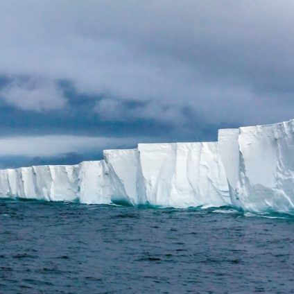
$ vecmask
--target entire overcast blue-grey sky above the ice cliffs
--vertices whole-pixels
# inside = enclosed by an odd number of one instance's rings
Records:
[[[293,52],[290,0],[1,0],[0,167],[292,119]]]

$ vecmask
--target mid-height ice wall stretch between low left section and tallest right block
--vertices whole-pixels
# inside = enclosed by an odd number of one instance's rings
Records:
[[[139,144],[104,150],[112,202],[196,207],[230,205],[216,143]]]

